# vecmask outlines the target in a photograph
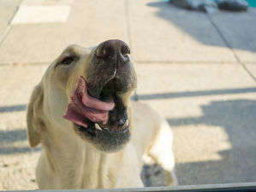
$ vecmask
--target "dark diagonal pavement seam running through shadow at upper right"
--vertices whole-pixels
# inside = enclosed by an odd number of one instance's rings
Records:
[[[217,25],[214,23],[214,21],[211,19],[210,15],[207,15],[207,17],[209,18],[211,25],[215,28],[215,30],[217,31],[217,33],[219,34],[220,38],[223,39],[224,44],[226,44],[226,46],[231,50],[232,54],[235,56],[235,60],[241,65],[241,67],[247,72],[247,74],[253,79],[253,81],[256,82],[256,78],[253,76],[253,73],[251,73],[247,67],[245,66],[244,63],[242,63],[242,61],[239,59],[239,57],[235,54],[234,49],[232,48],[232,46],[229,44],[229,42],[226,40],[226,38],[224,37],[223,33],[220,31],[220,29],[217,27]]]

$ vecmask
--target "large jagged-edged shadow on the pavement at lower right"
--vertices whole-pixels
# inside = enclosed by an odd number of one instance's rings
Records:
[[[199,118],[168,119],[169,124],[174,129],[182,125],[222,127],[232,148],[218,152],[222,160],[177,164],[179,183],[255,182],[256,100],[217,101],[203,105],[201,109],[203,115]]]

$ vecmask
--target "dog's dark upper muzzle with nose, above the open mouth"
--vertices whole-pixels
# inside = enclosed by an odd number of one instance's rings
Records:
[[[115,88],[119,93],[125,93],[133,82],[132,67],[128,54],[128,45],[121,40],[109,40],[94,50],[90,66],[86,69],[88,91],[98,98],[104,85],[115,80]]]

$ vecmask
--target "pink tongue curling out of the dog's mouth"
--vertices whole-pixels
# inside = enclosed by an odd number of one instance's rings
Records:
[[[64,118],[75,124],[87,127],[86,119],[92,122],[106,123],[108,113],[115,107],[115,102],[102,102],[89,96],[86,89],[86,80],[83,77],[77,80],[71,95],[71,102],[64,114]]]

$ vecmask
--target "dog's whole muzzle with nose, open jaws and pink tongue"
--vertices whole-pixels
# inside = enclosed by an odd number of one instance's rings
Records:
[[[100,148],[119,148],[129,138],[123,98],[128,98],[124,95],[130,94],[136,83],[130,49],[121,40],[109,40],[92,51],[86,75],[77,80],[64,118]]]

